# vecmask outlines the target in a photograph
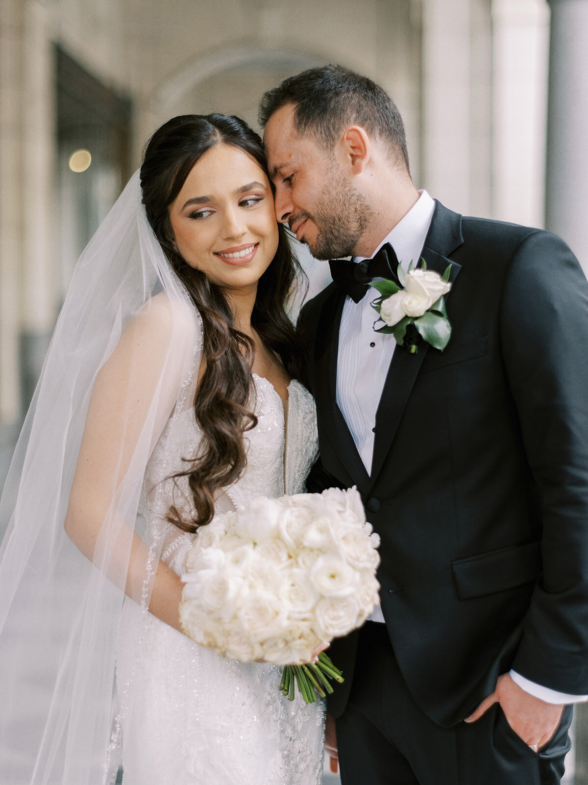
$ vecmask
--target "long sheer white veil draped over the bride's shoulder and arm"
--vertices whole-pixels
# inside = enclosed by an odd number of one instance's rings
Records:
[[[146,354],[145,341],[135,338],[154,309],[159,326]],[[198,368],[200,335],[198,313],[147,223],[136,173],[75,268],[0,504],[0,530],[7,527],[0,550],[2,782],[114,781],[117,763],[108,764],[107,749],[115,746],[122,588],[126,581],[127,593],[148,607],[160,547],[141,531],[143,475]],[[110,456],[107,504],[88,500],[88,509],[103,509],[91,562],[64,519],[96,377],[124,342],[118,367],[122,360],[132,382],[143,374],[143,400],[137,408],[136,384],[122,385],[110,413],[100,413],[104,425],[115,422],[134,436]],[[96,494],[104,495],[103,485],[96,480]],[[133,531],[145,546],[131,557]]]

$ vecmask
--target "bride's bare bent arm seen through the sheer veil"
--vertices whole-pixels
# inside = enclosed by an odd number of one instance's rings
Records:
[[[160,294],[133,317],[93,387],[65,530],[96,567],[140,601],[147,546],[125,520],[125,496],[138,494],[147,459],[178,396],[198,335],[188,306]],[[183,584],[161,560],[149,610],[180,629]]]

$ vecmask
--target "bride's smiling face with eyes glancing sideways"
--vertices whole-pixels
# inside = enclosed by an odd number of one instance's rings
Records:
[[[278,248],[267,175],[230,144],[216,144],[198,159],[169,218],[187,263],[226,289],[255,286]]]

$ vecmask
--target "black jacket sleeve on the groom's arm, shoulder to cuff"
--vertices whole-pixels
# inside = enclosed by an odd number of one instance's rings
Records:
[[[511,261],[503,358],[539,490],[543,574],[513,669],[588,692],[588,283],[561,239],[535,232]]]

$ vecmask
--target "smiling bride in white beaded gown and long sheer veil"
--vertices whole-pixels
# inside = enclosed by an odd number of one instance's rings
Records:
[[[165,123],[78,262],[2,498],[6,781],[111,783],[121,752],[125,785],[320,781],[320,703],[178,618],[199,528],[316,457],[294,279],[256,133]]]

